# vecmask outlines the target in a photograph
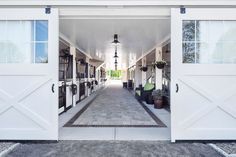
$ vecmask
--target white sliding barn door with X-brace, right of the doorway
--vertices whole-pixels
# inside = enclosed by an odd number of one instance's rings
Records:
[[[236,139],[236,9],[172,9],[171,138]]]

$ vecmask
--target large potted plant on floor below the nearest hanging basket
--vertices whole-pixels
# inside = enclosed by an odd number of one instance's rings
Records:
[[[154,100],[154,108],[160,109],[164,106],[164,93],[162,90],[157,89],[152,92],[152,97]]]

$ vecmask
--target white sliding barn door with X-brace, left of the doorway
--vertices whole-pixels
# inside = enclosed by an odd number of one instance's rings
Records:
[[[0,140],[58,139],[58,12],[0,9]]]

